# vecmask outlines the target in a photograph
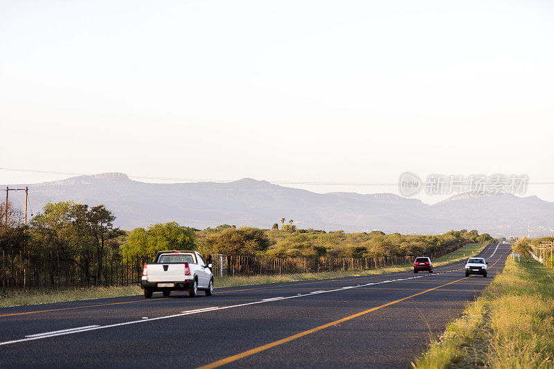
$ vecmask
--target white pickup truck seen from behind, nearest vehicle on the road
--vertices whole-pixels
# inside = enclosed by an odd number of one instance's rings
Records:
[[[151,298],[156,291],[169,297],[171,291],[188,291],[197,296],[198,290],[213,294],[212,264],[206,264],[196,251],[160,251],[154,262],[144,264],[141,288],[144,297]]]

